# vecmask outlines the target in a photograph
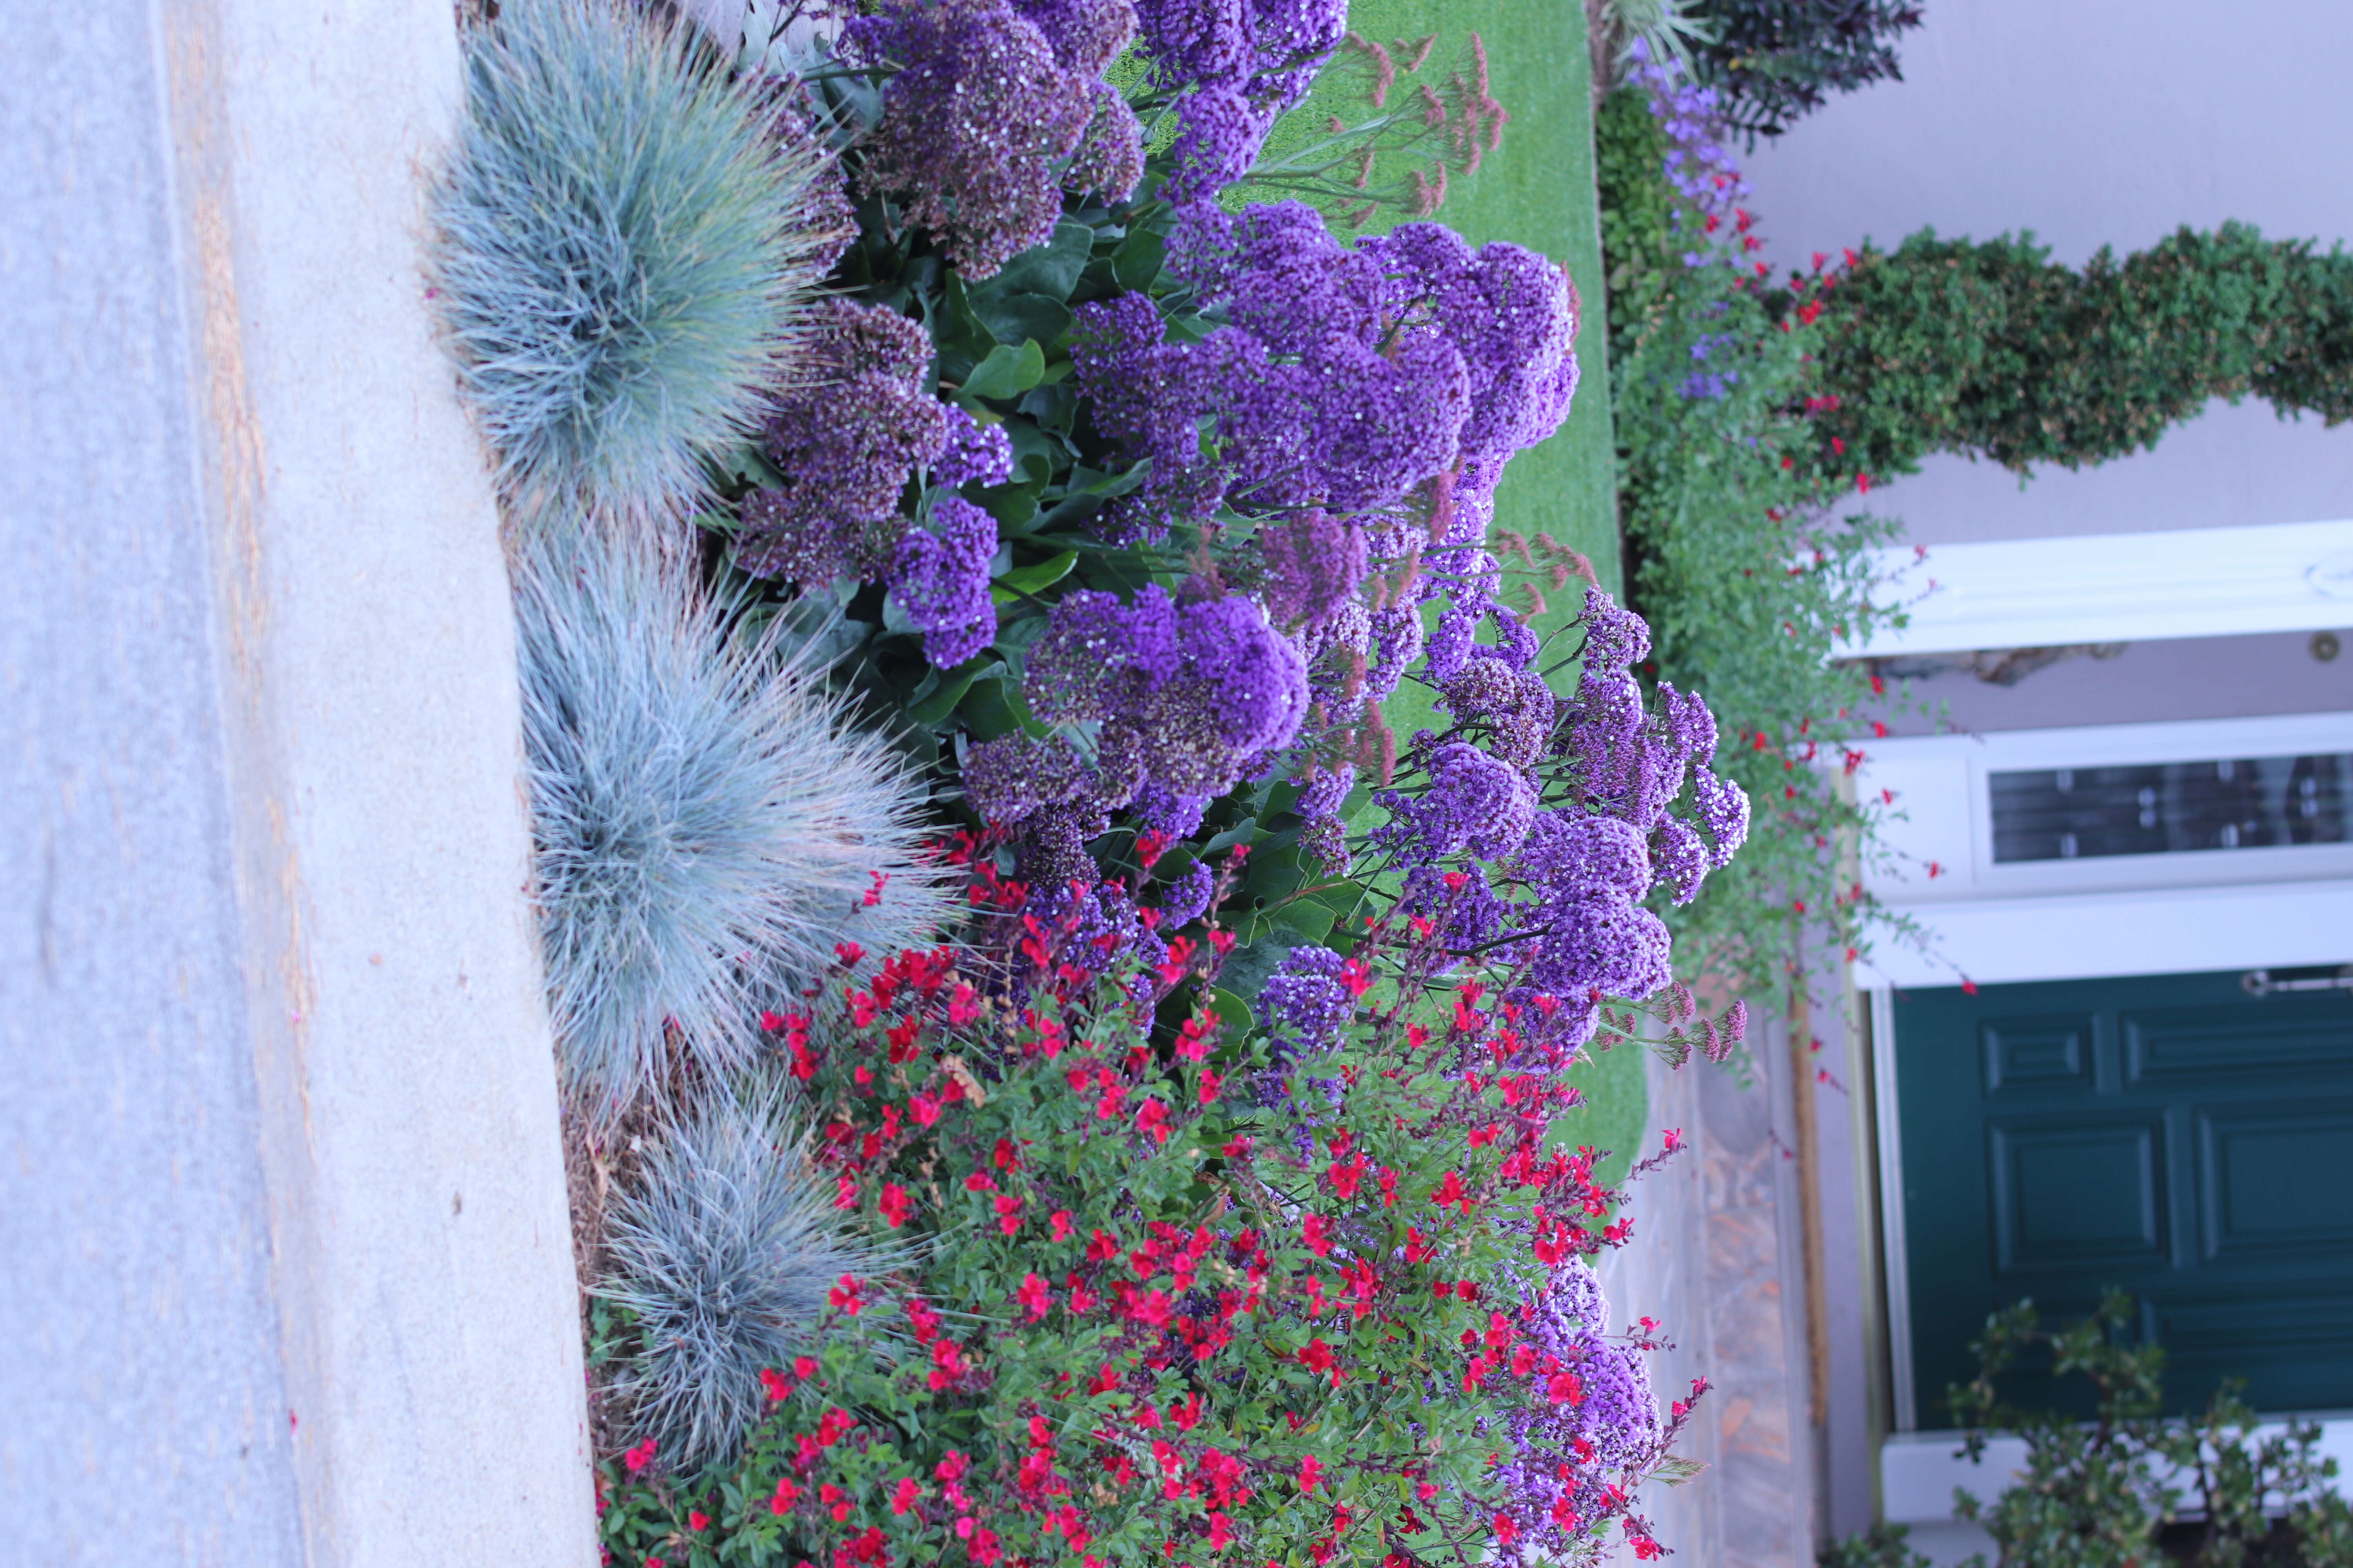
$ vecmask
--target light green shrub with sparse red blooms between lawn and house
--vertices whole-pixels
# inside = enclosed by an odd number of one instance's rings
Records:
[[[1873,853],[1887,809],[1845,788],[1875,729],[1864,712],[1887,689],[1833,661],[1887,614],[1871,602],[1868,550],[1897,524],[1842,510],[1814,461],[1809,360],[1833,284],[1760,287],[1741,263],[1746,209],[1727,202],[1729,221],[1711,228],[1666,183],[1654,101],[1614,92],[1600,132],[1602,240],[1624,280],[1612,364],[1631,597],[1657,672],[1704,693],[1732,731],[1718,769],[1758,811],[1741,858],[1668,919],[1685,964],[1781,990],[1802,919],[1857,950],[1873,926],[1906,931],[1842,875],[1842,844]]]

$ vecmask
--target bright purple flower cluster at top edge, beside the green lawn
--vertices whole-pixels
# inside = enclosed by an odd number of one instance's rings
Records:
[[[1165,195],[1202,202],[1259,160],[1348,31],[1348,0],[1141,0],[1153,87],[1176,99]]]

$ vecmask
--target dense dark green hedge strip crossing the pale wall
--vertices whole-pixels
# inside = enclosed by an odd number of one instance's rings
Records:
[[[1835,397],[1821,465],[1871,475],[1929,451],[2104,463],[2247,393],[2337,425],[2353,418],[2353,256],[2224,223],[2078,270],[2033,235],[1922,230],[1849,259],[1817,378]]]

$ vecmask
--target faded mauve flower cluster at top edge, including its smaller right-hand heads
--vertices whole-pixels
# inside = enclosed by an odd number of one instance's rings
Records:
[[[1141,127],[1099,80],[1134,21],[1127,0],[892,0],[852,19],[845,59],[892,71],[861,186],[899,193],[948,261],[993,277],[1054,233],[1066,179],[1134,188]]]

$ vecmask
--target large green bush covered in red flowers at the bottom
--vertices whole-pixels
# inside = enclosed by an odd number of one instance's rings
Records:
[[[1089,980],[1075,922],[1000,917],[779,1020],[835,1201],[911,1262],[833,1281],[739,1460],[605,1467],[621,1561],[1520,1561],[1551,1530],[1586,1561],[1633,1483],[1687,1474],[1687,1406],[1649,1406],[1579,1260],[1624,1239],[1572,1218],[1617,1194],[1534,1140],[1558,1079],[1482,1072],[1475,987],[1407,1023],[1442,954],[1402,919],[1339,990],[1344,1053],[1285,1060],[1212,990],[1214,919]],[[1579,1434],[1553,1514],[1489,1472],[1527,1406]]]

